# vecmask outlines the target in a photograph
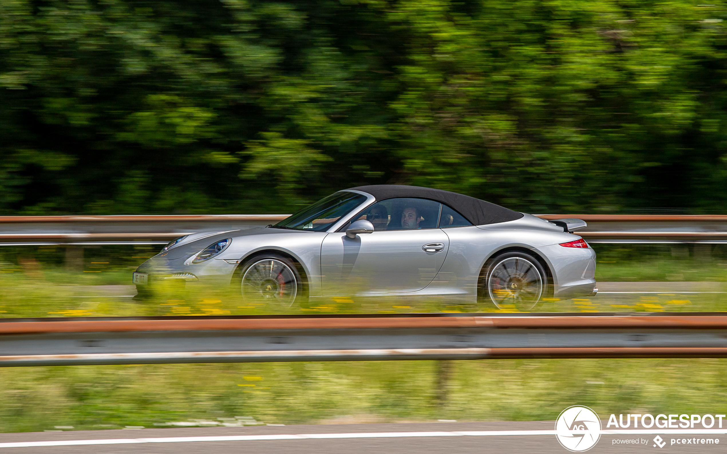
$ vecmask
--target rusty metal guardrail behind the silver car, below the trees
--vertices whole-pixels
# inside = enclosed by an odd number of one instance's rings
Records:
[[[172,216],[0,216],[0,246],[164,244],[206,230],[262,227],[286,214]],[[727,243],[727,216],[539,214],[578,218],[590,243]]]

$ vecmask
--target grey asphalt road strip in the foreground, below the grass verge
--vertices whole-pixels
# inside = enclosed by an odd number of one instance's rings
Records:
[[[388,423],[300,426],[212,427],[186,429],[138,429],[66,432],[28,432],[0,434],[2,454],[434,454],[434,453],[517,453],[564,454],[553,434],[489,434],[457,435],[457,431],[551,431],[553,421],[488,422],[488,423]],[[416,432],[414,436],[412,432]],[[407,433],[409,435],[407,435]],[[448,434],[449,433],[449,434]],[[301,437],[298,434],[303,434]],[[308,434],[308,435],[306,435]],[[314,435],[315,434],[315,435]],[[325,435],[322,435],[325,434]],[[342,435],[348,434],[348,435]],[[289,439],[281,436],[293,435]],[[197,439],[184,441],[177,437],[237,437],[258,439],[230,441]],[[258,436],[258,437],[256,437]],[[267,436],[268,439],[260,439]],[[313,437],[310,437],[313,436]],[[326,438],[329,437],[329,438]],[[341,438],[352,437],[352,438]],[[681,437],[681,436],[680,436]],[[684,437],[687,437],[686,435]],[[707,437],[704,435],[696,437]],[[655,447],[654,435],[602,435],[588,452],[599,453],[723,453],[727,434],[710,435],[722,438],[720,445],[670,445],[670,436],[663,448]],[[173,440],[177,438],[176,440]],[[276,439],[277,438],[277,439]],[[154,439],[153,441],[145,441]],[[640,443],[624,444],[625,439]],[[73,440],[105,440],[108,444],[78,445]],[[620,440],[615,444],[614,440]],[[7,447],[12,442],[51,442],[49,446]],[[72,443],[59,445],[57,442]]]

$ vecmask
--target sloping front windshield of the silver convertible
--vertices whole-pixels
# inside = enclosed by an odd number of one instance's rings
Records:
[[[273,227],[312,232],[328,230],[342,216],[350,213],[365,200],[365,195],[356,194],[356,192],[336,192],[303,208],[296,214],[286,217]]]

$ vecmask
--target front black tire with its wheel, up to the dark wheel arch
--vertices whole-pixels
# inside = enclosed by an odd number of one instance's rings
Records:
[[[289,309],[308,301],[302,266],[280,254],[259,254],[238,265],[232,284],[246,302]]]

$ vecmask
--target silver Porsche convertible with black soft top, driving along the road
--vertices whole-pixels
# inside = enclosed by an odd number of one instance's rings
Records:
[[[595,252],[571,233],[585,226],[426,187],[352,187],[275,225],[177,238],[133,281],[141,296],[174,280],[232,285],[281,307],[435,297],[527,310],[598,291]]]

